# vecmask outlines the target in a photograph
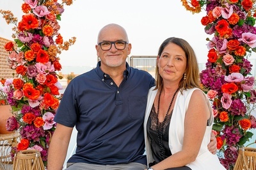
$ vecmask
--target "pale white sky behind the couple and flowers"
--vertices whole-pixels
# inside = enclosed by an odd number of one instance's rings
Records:
[[[60,0],[59,0],[60,1]],[[1,10],[11,10],[20,21],[22,0],[0,0]],[[192,14],[180,0],[76,0],[65,6],[59,22],[64,40],[76,36],[77,41],[60,54],[63,66],[97,65],[95,44],[99,30],[110,23],[123,26],[132,44],[129,56],[156,56],[161,43],[171,36],[187,40],[196,52],[198,63],[207,61],[206,38],[200,20],[205,11]],[[12,39],[13,25],[0,17],[0,36]]]

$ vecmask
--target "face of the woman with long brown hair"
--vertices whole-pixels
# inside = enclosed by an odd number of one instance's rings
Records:
[[[186,54],[179,45],[169,43],[164,47],[161,56],[157,56],[157,65],[163,81],[179,84],[186,72]]]

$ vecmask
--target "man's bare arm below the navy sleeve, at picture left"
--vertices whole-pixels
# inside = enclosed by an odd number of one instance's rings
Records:
[[[73,128],[57,124],[49,146],[47,169],[61,170],[67,156],[68,144]]]

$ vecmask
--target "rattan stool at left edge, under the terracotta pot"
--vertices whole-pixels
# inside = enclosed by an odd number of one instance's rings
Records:
[[[17,139],[20,134],[13,132],[12,134],[0,134],[0,169],[12,169],[12,158],[10,151],[12,147],[17,146]]]

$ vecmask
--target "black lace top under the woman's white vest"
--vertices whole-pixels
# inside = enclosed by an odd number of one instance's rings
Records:
[[[170,157],[172,155],[172,152],[170,151],[170,148],[168,146],[168,137],[169,137],[169,127],[170,127],[170,120],[172,118],[172,112],[168,114],[166,121],[164,122],[163,126],[163,146],[165,148],[165,155],[166,157]],[[155,160],[155,163],[161,162],[164,160],[163,157],[161,157],[161,151],[159,146],[159,139],[157,137],[156,132],[156,125],[157,125],[157,112],[156,108],[153,104],[152,109],[150,111],[150,116],[148,118],[147,122],[147,135],[150,140],[150,146],[153,154],[153,158]],[[160,127],[161,123],[159,124]]]

